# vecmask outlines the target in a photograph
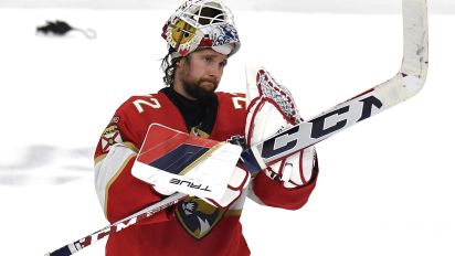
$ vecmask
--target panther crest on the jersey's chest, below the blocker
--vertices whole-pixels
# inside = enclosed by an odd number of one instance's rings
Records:
[[[197,239],[207,236],[223,218],[226,209],[218,209],[198,198],[178,204],[177,218],[182,227]]]

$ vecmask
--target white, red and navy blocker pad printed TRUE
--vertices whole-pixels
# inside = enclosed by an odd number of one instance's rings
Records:
[[[228,189],[241,152],[240,146],[152,124],[131,173],[166,190],[219,200]]]

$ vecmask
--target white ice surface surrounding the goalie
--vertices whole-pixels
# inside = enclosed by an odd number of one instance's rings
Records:
[[[455,17],[430,13],[423,90],[319,143],[318,185],[304,209],[247,202],[241,221],[253,255],[455,255]],[[162,86],[168,14],[0,9],[1,255],[43,255],[107,225],[93,149],[121,102]],[[305,117],[384,82],[401,64],[399,14],[235,18],[243,44],[220,89],[244,90],[244,65],[257,63],[294,92]],[[56,19],[98,36],[35,34]],[[77,255],[103,255],[104,244]]]

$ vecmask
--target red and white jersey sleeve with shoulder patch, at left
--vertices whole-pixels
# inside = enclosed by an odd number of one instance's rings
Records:
[[[144,140],[137,132],[138,126],[145,125],[127,102],[117,109],[96,147],[96,193],[109,222],[121,220],[162,199],[149,184],[131,175],[131,167]],[[161,211],[144,223],[167,221],[171,213],[172,209]]]

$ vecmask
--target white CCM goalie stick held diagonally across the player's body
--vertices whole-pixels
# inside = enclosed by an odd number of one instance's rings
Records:
[[[361,120],[370,118],[411,98],[422,89],[428,65],[426,0],[403,0],[402,12],[403,62],[399,73],[391,79],[319,114],[308,121],[287,128],[263,142],[254,145],[242,153],[242,158],[251,171],[257,171],[258,169],[254,159],[271,162],[310,147]],[[248,70],[247,75],[258,83],[268,83],[268,79],[272,79],[269,74],[264,70]],[[329,125],[328,119],[330,119],[331,125]],[[262,166],[264,162],[260,162],[258,164]],[[73,255],[109,234],[124,230],[139,220],[151,216],[166,207],[177,204],[186,196],[188,195],[181,193],[172,194],[92,235],[70,243],[45,255]]]

